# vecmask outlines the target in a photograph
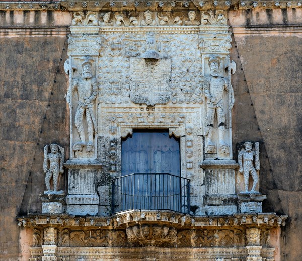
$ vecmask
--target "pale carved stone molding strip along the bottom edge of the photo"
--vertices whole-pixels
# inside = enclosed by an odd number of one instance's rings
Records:
[[[171,248],[145,246],[136,248],[112,248],[112,247],[57,247],[57,256],[53,256],[57,259],[42,259],[42,260],[93,260],[94,258],[100,261],[107,260],[274,260],[273,252],[275,248],[265,247],[259,248],[259,255],[263,259],[253,259],[251,255],[250,259],[244,259],[247,257],[249,250],[246,247],[179,247]],[[257,248],[257,249],[258,249]],[[261,250],[260,250],[261,249]],[[32,247],[32,257],[30,261],[36,261],[43,255],[42,247]],[[67,257],[68,256],[68,257]],[[129,256],[131,256],[129,258]],[[52,256],[49,256],[52,257]],[[260,257],[260,258],[261,258]]]

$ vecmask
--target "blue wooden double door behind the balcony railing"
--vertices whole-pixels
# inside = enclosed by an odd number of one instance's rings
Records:
[[[180,146],[168,132],[133,132],[122,142],[123,209],[180,209]],[[134,174],[134,175],[133,175]],[[170,175],[168,175],[170,174]]]

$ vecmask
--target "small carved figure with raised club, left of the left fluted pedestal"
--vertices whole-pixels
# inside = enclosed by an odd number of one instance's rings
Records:
[[[60,152],[59,152],[60,150]],[[61,194],[63,191],[57,191],[59,174],[63,173],[63,163],[65,150],[57,144],[50,145],[50,153],[48,153],[48,145],[44,147],[43,170],[45,175],[45,184],[47,191],[44,194]],[[49,162],[49,167],[48,167]],[[53,190],[50,189],[50,179],[53,177]]]

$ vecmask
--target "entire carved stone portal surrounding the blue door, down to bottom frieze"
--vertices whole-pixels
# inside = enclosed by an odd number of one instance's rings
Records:
[[[65,194],[42,195],[43,214],[18,218],[34,231],[31,261],[273,260],[270,234],[286,216],[262,213],[259,144],[245,142],[239,164],[233,160],[236,64],[226,10],[154,3],[73,9],[64,64],[68,191],[65,202]],[[178,140],[186,211],[115,211],[122,187],[115,191],[112,180],[123,173],[122,145],[136,130]],[[236,194],[238,172],[247,186]]]

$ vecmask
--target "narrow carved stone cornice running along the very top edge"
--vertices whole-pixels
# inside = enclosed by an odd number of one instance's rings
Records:
[[[33,10],[33,11],[120,11],[137,10],[153,11],[161,9],[163,11],[171,10],[228,10],[232,9],[272,9],[272,8],[300,8],[302,1],[257,1],[257,0],[163,0],[163,1],[103,1],[103,0],[63,0],[63,1],[6,1],[0,3],[0,10]]]

